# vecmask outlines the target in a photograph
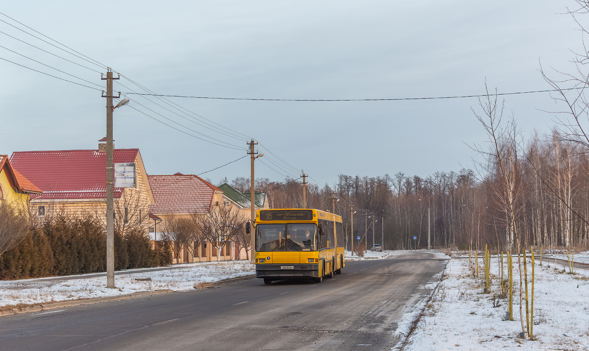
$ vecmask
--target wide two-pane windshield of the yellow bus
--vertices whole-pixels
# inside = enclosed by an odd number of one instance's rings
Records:
[[[314,223],[256,226],[256,251],[316,251],[317,246],[317,225]]]

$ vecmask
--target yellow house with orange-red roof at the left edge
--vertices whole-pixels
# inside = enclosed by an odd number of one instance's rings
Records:
[[[41,189],[12,167],[8,155],[0,155],[0,201],[28,212],[31,196],[41,193]]]

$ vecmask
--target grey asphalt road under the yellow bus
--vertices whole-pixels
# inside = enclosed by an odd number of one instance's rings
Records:
[[[445,266],[431,253],[349,261],[322,283],[252,279],[0,318],[2,350],[390,350],[405,307]]]

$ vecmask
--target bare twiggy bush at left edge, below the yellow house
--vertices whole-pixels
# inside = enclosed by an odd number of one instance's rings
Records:
[[[27,236],[30,228],[28,208],[0,200],[0,255],[14,248]]]

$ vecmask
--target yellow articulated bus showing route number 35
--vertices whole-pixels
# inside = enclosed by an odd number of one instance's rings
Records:
[[[341,274],[346,265],[342,217],[305,208],[257,210],[256,277],[273,280]]]

